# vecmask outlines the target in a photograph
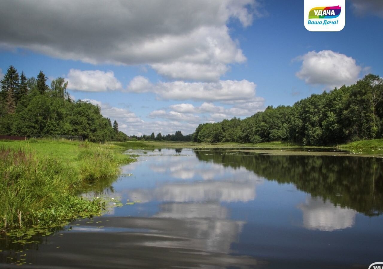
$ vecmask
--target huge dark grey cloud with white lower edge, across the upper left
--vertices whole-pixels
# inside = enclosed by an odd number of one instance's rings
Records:
[[[204,81],[246,60],[226,24],[246,27],[261,15],[255,0],[3,0],[0,9],[12,10],[0,16],[3,47],[91,64],[148,64],[166,77]]]

